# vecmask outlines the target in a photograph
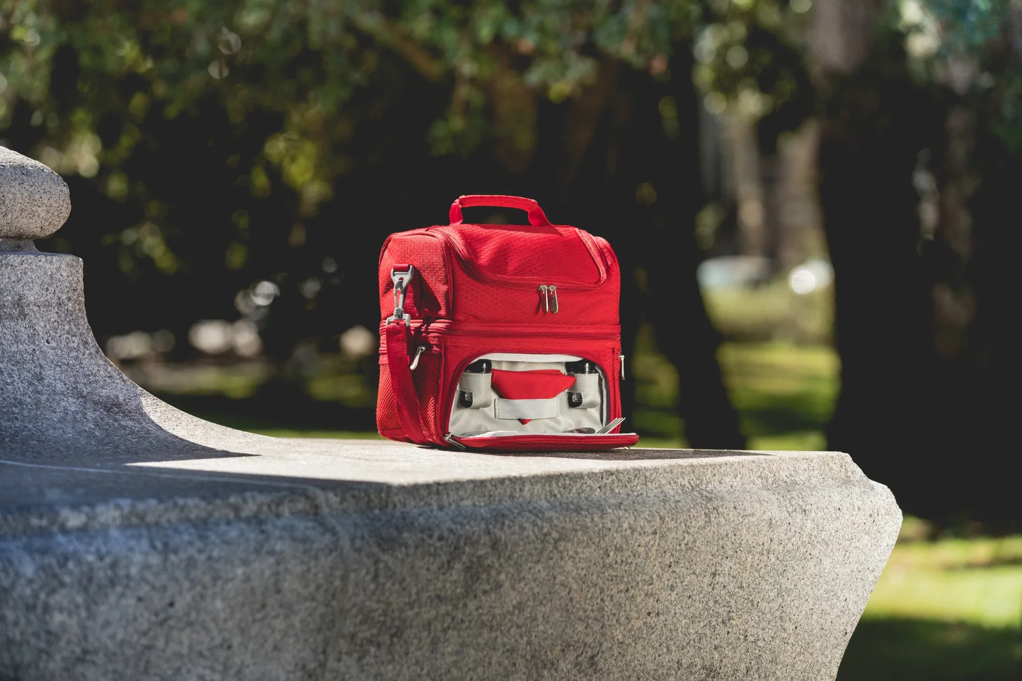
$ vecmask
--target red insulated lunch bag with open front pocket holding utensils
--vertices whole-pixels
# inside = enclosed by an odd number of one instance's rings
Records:
[[[470,225],[462,208],[529,225]],[[610,244],[519,196],[461,196],[451,224],[391,234],[379,264],[384,438],[505,452],[595,451],[618,433],[624,376]]]

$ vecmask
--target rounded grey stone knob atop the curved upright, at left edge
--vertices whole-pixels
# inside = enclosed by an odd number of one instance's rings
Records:
[[[49,168],[0,146],[0,239],[40,239],[71,215],[71,192]]]

